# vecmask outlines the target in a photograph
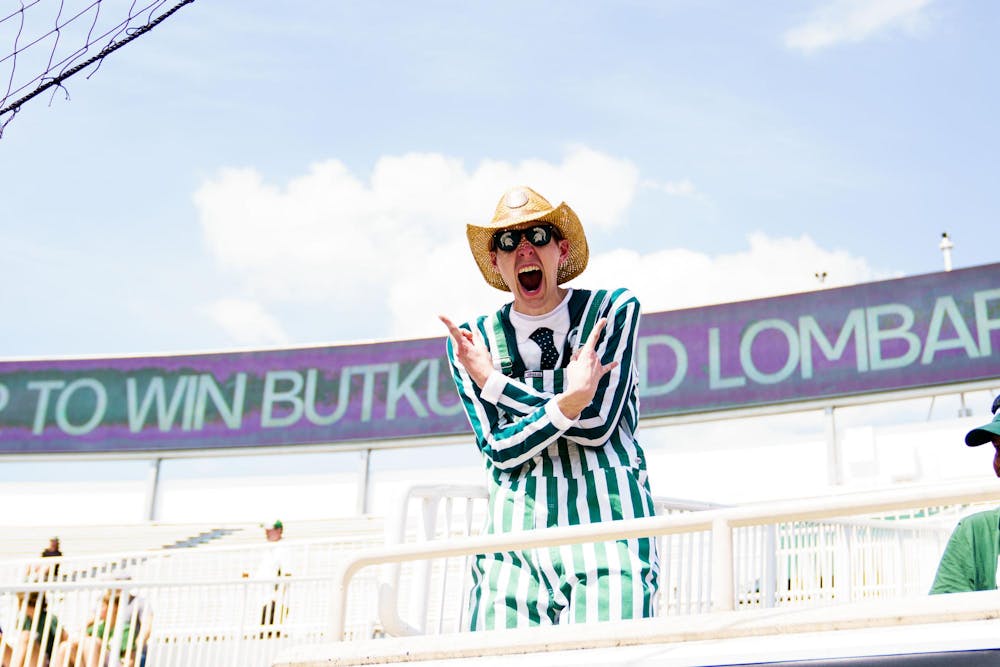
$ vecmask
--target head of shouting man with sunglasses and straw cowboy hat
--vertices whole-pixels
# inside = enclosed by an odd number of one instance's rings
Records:
[[[514,307],[531,315],[557,306],[560,285],[580,275],[590,256],[573,209],[525,186],[504,193],[489,223],[466,225],[466,236],[486,282],[511,292]]]

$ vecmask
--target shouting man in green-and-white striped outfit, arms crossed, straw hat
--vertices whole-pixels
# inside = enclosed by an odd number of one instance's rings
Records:
[[[639,302],[625,289],[562,287],[587,266],[579,218],[509,190],[466,228],[486,282],[513,302],[447,317],[448,357],[490,487],[488,533],[651,516],[634,359]],[[473,630],[651,616],[653,539],[482,554]]]

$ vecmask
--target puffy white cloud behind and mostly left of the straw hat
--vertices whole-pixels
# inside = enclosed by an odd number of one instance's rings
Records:
[[[508,187],[530,184],[553,204],[573,202],[588,226],[614,228],[638,181],[632,163],[575,146],[557,164],[484,161],[471,172],[438,154],[388,156],[367,183],[337,160],[283,187],[253,169],[226,169],[194,200],[210,254],[261,302],[323,304],[381,317],[385,329],[387,299],[404,310],[416,303],[426,318],[439,312],[429,306],[457,312],[449,308],[459,303],[455,295],[482,286],[464,246],[465,223],[488,221]]]

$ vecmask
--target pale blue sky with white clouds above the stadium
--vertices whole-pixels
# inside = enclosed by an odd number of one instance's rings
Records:
[[[503,300],[464,223],[518,183],[650,311],[938,271],[944,231],[994,262],[998,18],[195,2],[0,138],[0,358],[443,335]]]

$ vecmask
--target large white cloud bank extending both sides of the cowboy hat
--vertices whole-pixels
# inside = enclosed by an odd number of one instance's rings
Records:
[[[585,147],[558,164],[492,161],[471,172],[442,155],[385,157],[367,184],[333,160],[284,188],[253,170],[222,172],[196,194],[201,223],[211,253],[256,301],[220,302],[213,317],[241,344],[286,340],[265,308],[289,302],[332,322],[335,341],[443,335],[438,314],[465,321],[509,299],[483,282],[463,232],[469,220],[488,220],[515,183],[571,202],[588,229],[613,228],[626,219],[639,175],[630,162]],[[675,187],[697,192],[686,180]],[[573,284],[627,286],[652,312],[813,290],[818,271],[828,274],[824,287],[887,277],[807,236],[755,233],[745,251],[727,255],[596,253]],[[344,333],[340,325],[351,321],[369,333]]]

